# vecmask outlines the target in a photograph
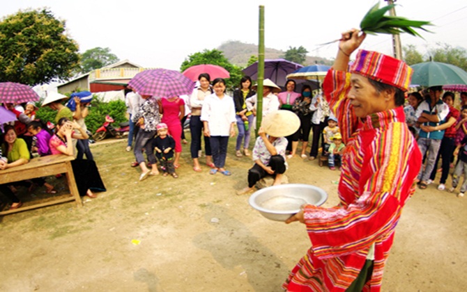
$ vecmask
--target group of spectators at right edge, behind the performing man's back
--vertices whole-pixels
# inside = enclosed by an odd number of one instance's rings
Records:
[[[459,111],[454,107],[454,93],[443,93],[442,86],[408,94],[408,105],[404,107],[406,123],[425,156],[425,166],[417,177],[422,190],[434,183],[436,173],[441,172],[438,190],[447,189],[452,193],[459,183],[459,176],[464,173],[460,170],[453,172],[452,186],[446,188],[450,168],[459,164],[462,158],[458,155],[459,151],[466,146],[463,139],[467,133],[467,92],[461,92],[460,96]],[[458,157],[457,161],[454,161],[455,156]],[[441,166],[438,168],[440,159]],[[466,188],[461,188],[457,196],[464,197],[465,191]]]

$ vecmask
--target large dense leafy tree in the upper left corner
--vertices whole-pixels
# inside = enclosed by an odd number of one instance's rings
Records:
[[[0,22],[0,81],[35,86],[67,79],[79,64],[65,22],[49,10],[24,10]]]

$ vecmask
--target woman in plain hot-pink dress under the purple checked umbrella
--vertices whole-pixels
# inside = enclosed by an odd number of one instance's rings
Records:
[[[174,167],[180,166],[179,160],[182,153],[182,122],[185,116],[185,102],[180,97],[162,98],[159,113],[162,114],[161,122],[167,124],[169,135],[175,140]]]

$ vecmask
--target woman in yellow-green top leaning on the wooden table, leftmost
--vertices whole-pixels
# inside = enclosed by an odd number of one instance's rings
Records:
[[[1,159],[0,161],[0,170],[5,170],[7,168],[14,168],[15,166],[20,166],[29,162],[31,158],[29,154],[29,149],[26,145],[26,142],[22,138],[17,138],[15,127],[5,126],[4,127],[4,142],[1,146],[2,152],[6,159]],[[0,154],[1,156],[1,154]],[[54,186],[45,182],[43,178],[31,179],[33,184],[28,181],[21,181],[19,184],[23,186],[29,186],[31,189],[34,184],[39,186],[45,186],[47,188],[47,193],[56,193]],[[18,197],[10,190],[8,187],[11,184],[2,184],[0,185],[0,192],[3,195],[6,195],[12,202],[10,210],[18,209],[22,206],[22,202]]]

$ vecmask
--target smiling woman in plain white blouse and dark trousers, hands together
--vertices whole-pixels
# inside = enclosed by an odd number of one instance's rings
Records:
[[[214,168],[209,173],[215,175],[218,171],[222,175],[231,175],[224,165],[229,136],[235,136],[234,99],[225,94],[225,81],[222,78],[214,79],[213,89],[214,93],[204,99],[203,108],[201,108],[204,136],[209,137],[214,162]]]

